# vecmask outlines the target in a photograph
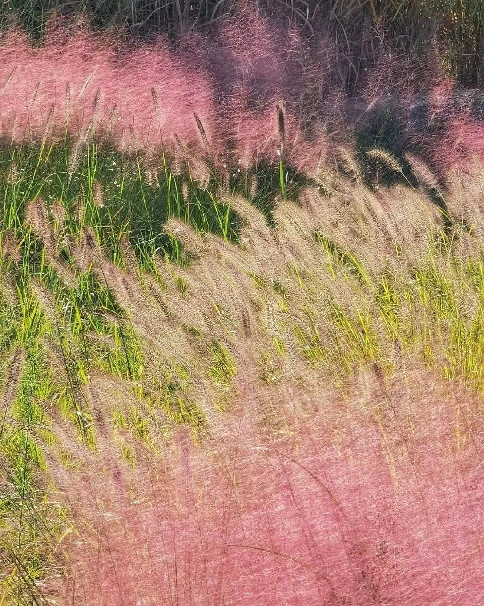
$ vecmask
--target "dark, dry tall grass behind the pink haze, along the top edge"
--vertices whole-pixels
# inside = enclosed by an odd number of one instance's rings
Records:
[[[94,30],[113,30],[123,38],[149,39],[162,32],[179,39],[190,30],[204,36],[234,16],[275,18],[293,32],[301,29],[315,41],[331,41],[338,76],[350,87],[392,48],[415,53],[421,63],[437,53],[459,82],[482,84],[484,7],[479,0],[4,0],[0,28],[20,24],[39,40],[52,19],[81,18]]]

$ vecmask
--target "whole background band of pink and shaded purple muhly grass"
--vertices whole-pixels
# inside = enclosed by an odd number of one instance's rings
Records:
[[[96,136],[119,150],[160,158],[163,149],[217,167],[277,163],[280,152],[285,164],[314,171],[330,138],[347,140],[391,106],[390,122],[407,124],[408,144],[442,175],[484,158],[480,121],[436,70],[388,52],[358,75],[350,97],[333,85],[331,45],[311,47],[297,30],[243,11],[176,47],[162,37],[128,47],[62,25],[41,46],[19,30],[0,46],[0,136],[14,144]]]

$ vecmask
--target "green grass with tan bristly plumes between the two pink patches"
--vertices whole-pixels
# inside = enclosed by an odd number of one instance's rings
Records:
[[[146,465],[167,465],[181,428],[210,451],[253,400],[262,447],[312,424],[304,396],[321,389],[346,393],[358,414],[366,408],[397,474],[387,443],[396,428],[382,418],[388,406],[400,414],[400,396],[364,404],[352,392],[355,377],[375,373],[378,390],[429,368],[482,390],[478,165],[432,195],[405,179],[371,190],[358,182],[356,159],[353,176],[324,167],[291,191],[281,163],[280,181],[263,167],[257,182],[266,189],[250,192],[245,171],[225,186],[213,175],[201,188],[189,167],[173,175],[161,165],[148,175],[135,157],[94,142],[73,173],[69,156],[66,145],[2,151],[5,604],[43,603],[50,584],[59,591],[69,570],[62,553],[72,553],[67,545],[86,524],[79,470],[121,469],[136,487]],[[447,214],[432,202],[437,195]],[[339,398],[330,397],[330,408]],[[468,410],[468,400],[457,398],[451,428],[442,412],[442,447],[450,441],[479,465],[482,407]],[[415,406],[406,440],[417,439],[434,405],[424,397]],[[334,415],[325,441],[337,432]],[[477,540],[477,522],[475,531]],[[63,603],[82,599],[98,603],[80,594]]]

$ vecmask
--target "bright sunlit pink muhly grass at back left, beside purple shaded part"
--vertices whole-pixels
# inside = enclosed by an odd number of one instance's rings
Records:
[[[163,45],[116,58],[112,48],[84,32],[61,42],[51,38],[44,47],[33,48],[20,32],[3,39],[3,138],[16,143],[38,140],[53,107],[53,130],[58,135],[67,129],[77,136],[93,120],[97,133],[109,125],[118,144],[123,132],[132,132],[129,145],[134,149],[170,147],[175,133],[187,145],[197,145],[193,118],[197,113],[210,139],[214,113],[210,84],[182,67]]]

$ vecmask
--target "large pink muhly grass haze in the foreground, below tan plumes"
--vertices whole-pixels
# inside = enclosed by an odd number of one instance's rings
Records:
[[[484,603],[473,396],[411,372],[269,430],[253,394],[202,445],[181,432],[131,471],[106,439],[61,481],[81,527],[63,603]]]

